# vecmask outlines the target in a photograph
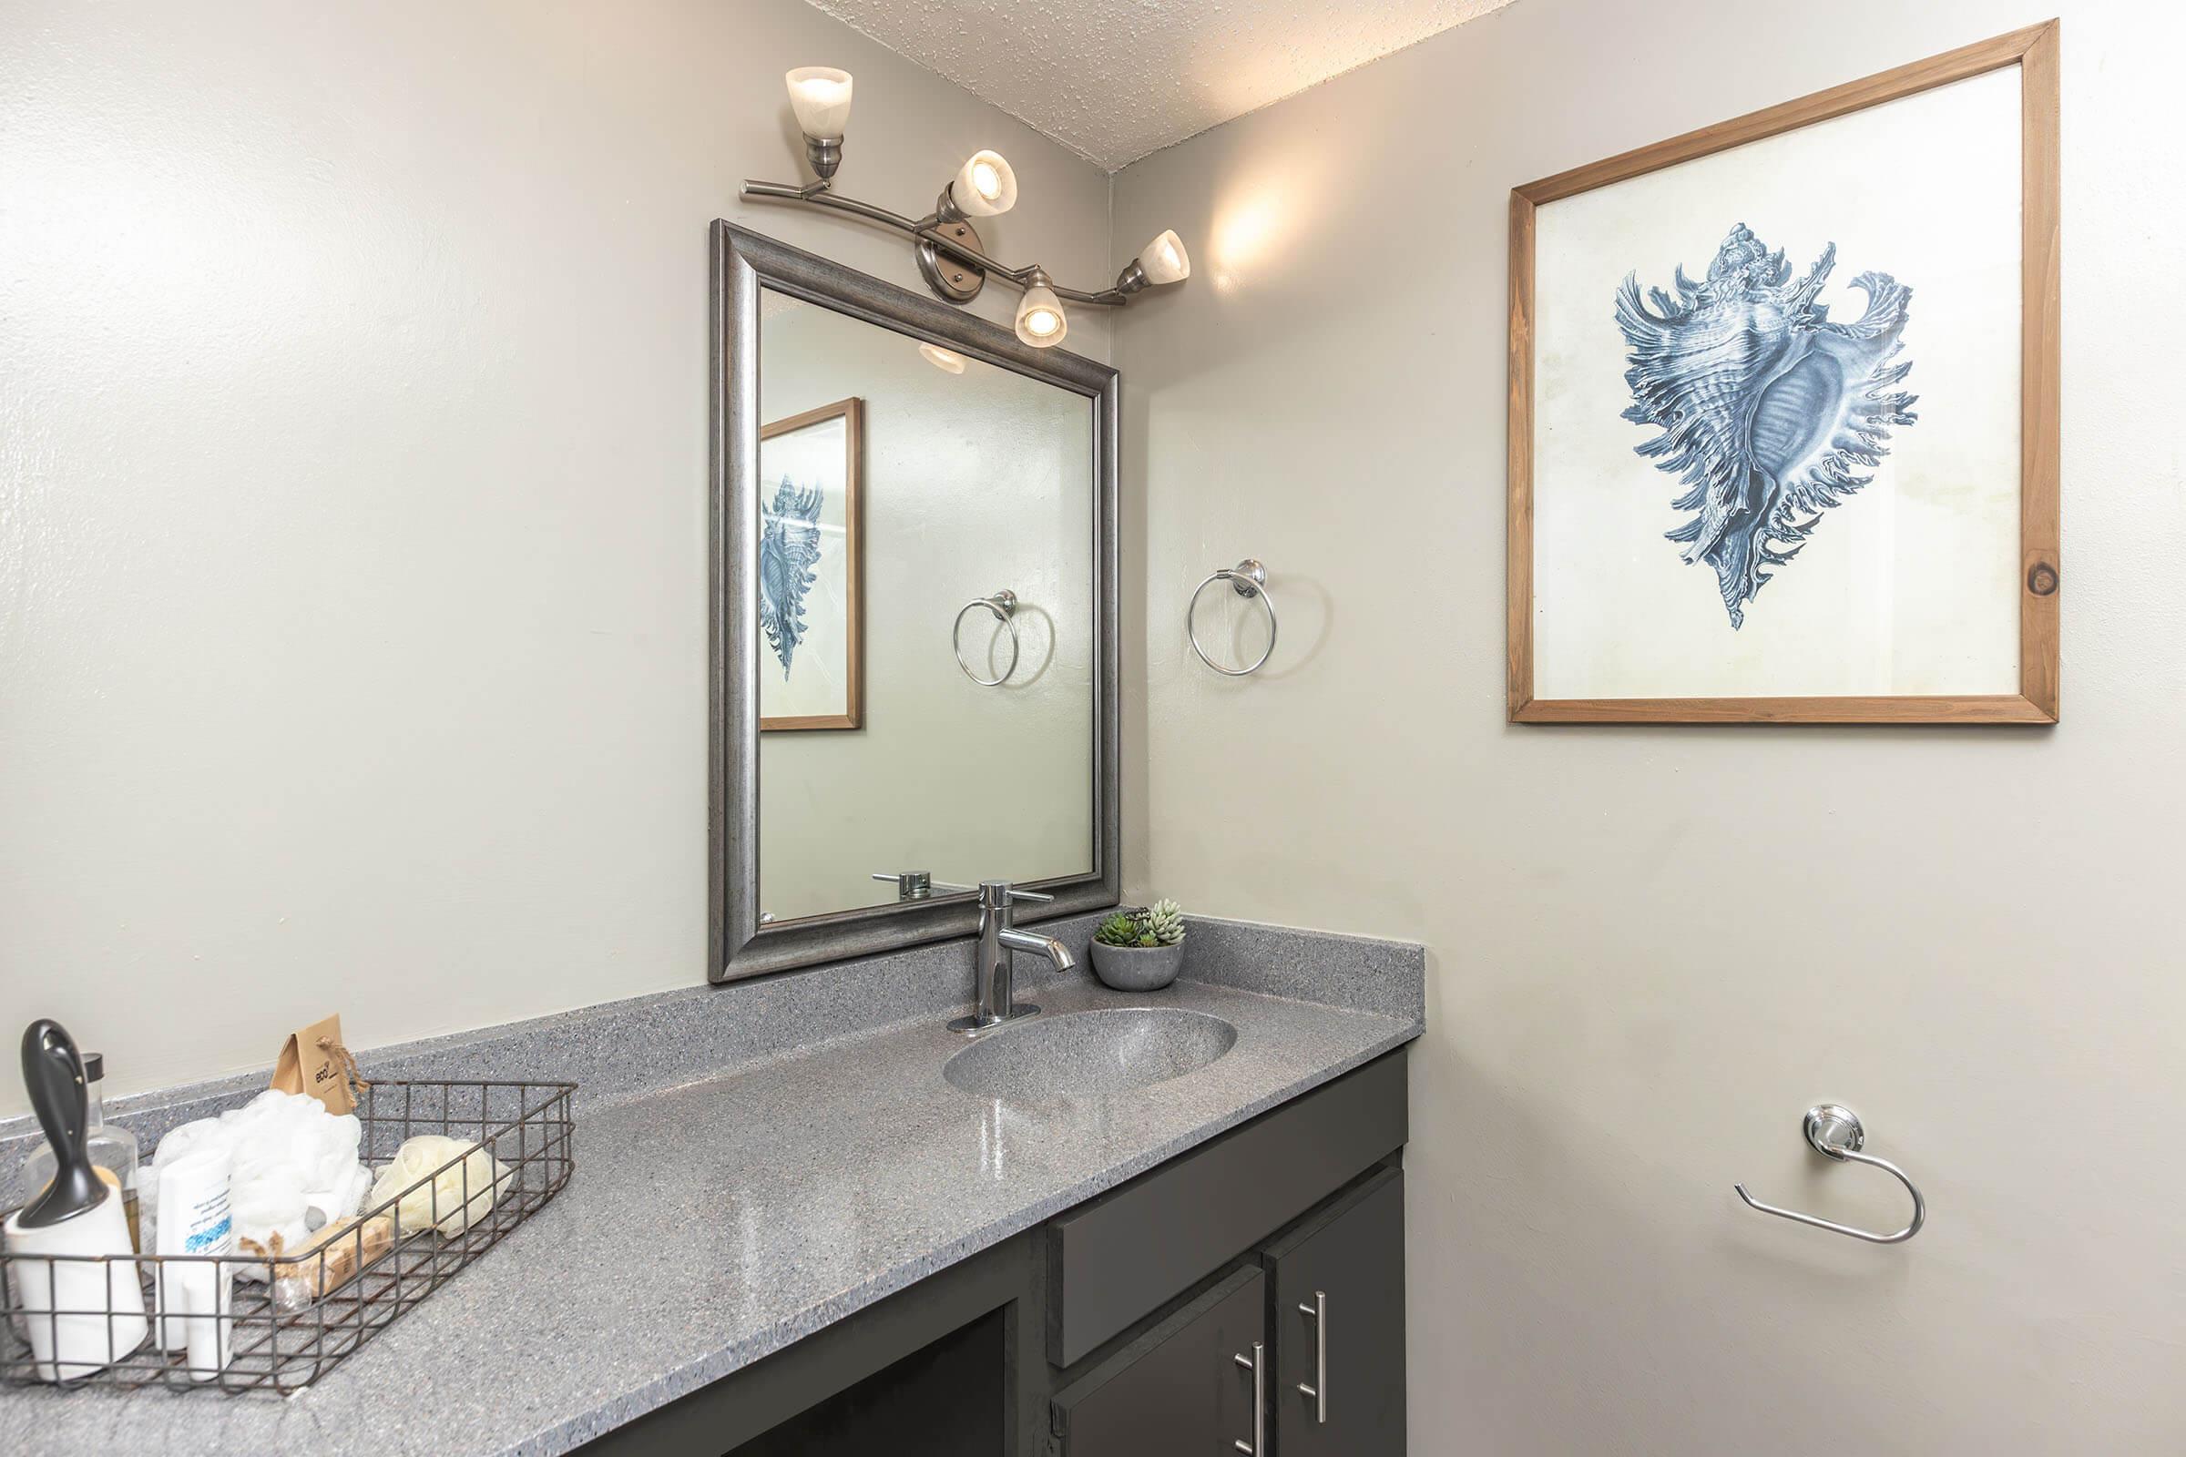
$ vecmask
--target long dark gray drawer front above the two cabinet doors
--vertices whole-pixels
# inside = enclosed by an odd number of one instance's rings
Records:
[[[1047,1359],[1080,1361],[1403,1147],[1403,1049],[1047,1225]]]

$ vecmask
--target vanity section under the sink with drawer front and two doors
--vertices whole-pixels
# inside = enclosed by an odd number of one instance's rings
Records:
[[[1051,1219],[1051,1457],[1399,1457],[1403,1138],[1397,1053]]]

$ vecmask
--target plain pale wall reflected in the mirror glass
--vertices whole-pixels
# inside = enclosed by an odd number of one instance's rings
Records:
[[[765,297],[761,419],[866,402],[866,723],[761,734],[759,904],[794,920],[892,902],[872,880],[888,869],[1089,872],[1093,402],[979,360],[944,374],[903,334]],[[1016,666],[979,688],[949,629],[997,588],[1019,599]],[[982,677],[1008,664],[986,612],[962,644]]]

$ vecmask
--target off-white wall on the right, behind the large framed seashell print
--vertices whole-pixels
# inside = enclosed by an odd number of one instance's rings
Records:
[[[1198,264],[1117,343],[1126,891],[1432,946],[1421,1457],[2186,1446],[2186,24],[2057,9],[2055,732],[1543,730],[1502,699],[1508,188],[2050,4],[1524,0],[1117,179],[1119,256],[1174,225]],[[1183,596],[1246,553],[1283,644],[1226,682]],[[1819,1097],[1926,1186],[1911,1245],[1731,1195],[1902,1217],[1803,1149]]]

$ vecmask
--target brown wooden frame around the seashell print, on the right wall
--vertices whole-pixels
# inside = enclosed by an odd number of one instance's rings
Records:
[[[2020,68],[2020,668],[2018,692],[1963,697],[1535,697],[1535,212],[1559,199]],[[1513,723],[2055,723],[2059,706],[2057,22],[2029,26],[1511,192],[1508,716]]]

